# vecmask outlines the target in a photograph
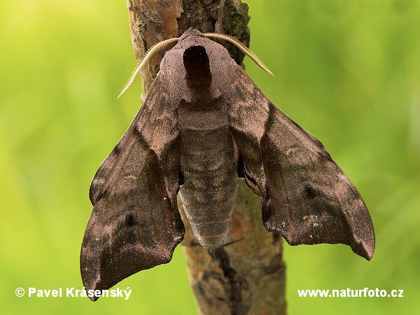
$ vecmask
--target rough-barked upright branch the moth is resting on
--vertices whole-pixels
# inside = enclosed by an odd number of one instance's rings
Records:
[[[248,5],[240,0],[129,0],[134,54],[139,60],[148,48],[193,27],[202,32],[223,31],[249,44]],[[222,42],[221,42],[222,43]],[[244,55],[222,43],[241,64]],[[165,52],[157,53],[142,71],[143,95],[159,71]],[[190,284],[200,314],[286,314],[282,239],[265,230],[260,198],[239,183],[230,237],[223,248],[209,253],[200,246],[183,214],[183,241]]]

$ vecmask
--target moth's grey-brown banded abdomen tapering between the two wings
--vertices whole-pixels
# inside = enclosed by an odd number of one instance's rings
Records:
[[[207,248],[218,248],[229,234],[238,185],[237,161],[228,125],[223,119],[214,120],[219,112],[200,116],[202,123],[180,116],[185,181],[179,193],[197,241]],[[214,123],[209,124],[209,120]]]

